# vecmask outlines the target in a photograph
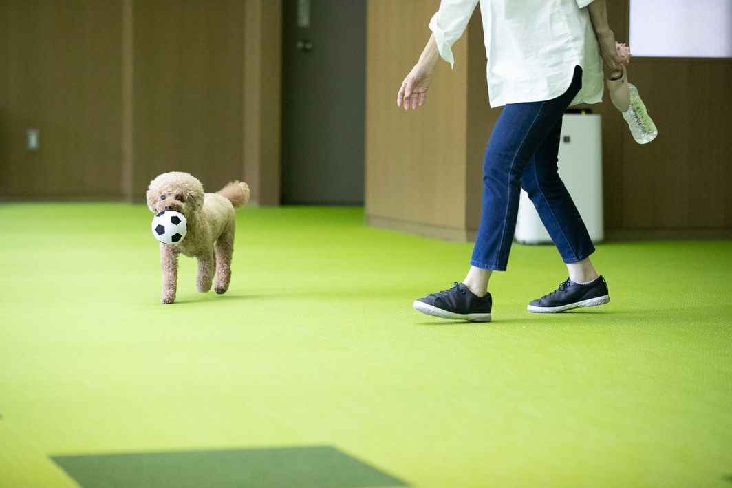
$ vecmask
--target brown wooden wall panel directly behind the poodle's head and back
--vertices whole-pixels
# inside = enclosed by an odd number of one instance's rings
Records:
[[[165,171],[206,191],[242,180],[242,1],[135,0],[133,10],[135,198]]]

